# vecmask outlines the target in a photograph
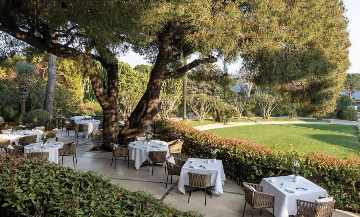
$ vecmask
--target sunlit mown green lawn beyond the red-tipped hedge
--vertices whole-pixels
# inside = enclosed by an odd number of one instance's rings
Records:
[[[288,150],[292,141],[295,149],[325,152],[338,157],[359,157],[359,140],[355,126],[330,124],[258,124],[206,130],[228,138],[243,138]]]

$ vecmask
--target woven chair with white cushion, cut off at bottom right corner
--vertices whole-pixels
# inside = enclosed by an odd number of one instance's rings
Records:
[[[319,197],[321,199],[323,197]],[[309,202],[296,200],[297,217],[302,214],[304,217],[331,217],[336,200],[329,202]]]

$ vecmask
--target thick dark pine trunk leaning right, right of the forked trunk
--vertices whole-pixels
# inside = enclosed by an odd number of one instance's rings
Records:
[[[161,85],[170,57],[158,54],[150,74],[148,88],[123,126],[119,139],[125,140],[144,135],[153,123],[154,117],[158,114]]]

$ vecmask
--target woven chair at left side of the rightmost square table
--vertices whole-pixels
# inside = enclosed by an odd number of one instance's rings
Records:
[[[271,194],[263,193],[262,185],[257,185],[257,184],[253,184],[253,183],[243,183],[243,184],[246,184],[246,185],[249,185],[249,186],[255,188],[255,191],[254,191],[254,190],[251,190],[250,188],[248,188],[247,186],[243,185],[244,194],[245,194],[245,206],[244,206],[244,211],[243,211],[243,217],[244,217],[244,213],[245,213],[246,203],[248,203],[250,205],[250,207],[252,208],[252,216],[254,216],[254,209],[260,208],[260,216],[261,216],[262,208],[273,208],[273,217],[274,217],[275,196],[271,195]]]

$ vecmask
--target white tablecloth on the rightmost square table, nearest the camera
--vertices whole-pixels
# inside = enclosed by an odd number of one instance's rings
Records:
[[[288,217],[289,215],[296,215],[296,199],[315,202],[316,199],[321,197],[328,197],[328,193],[325,189],[312,183],[302,176],[298,177],[298,181],[294,182],[294,176],[279,176],[276,177],[276,182],[270,183],[271,178],[264,178],[261,180],[263,186],[263,192],[267,194],[275,195],[275,207],[274,215],[276,217]],[[307,183],[306,189],[296,189],[297,187],[304,188],[304,183]],[[284,183],[284,187],[280,188],[280,184]],[[287,187],[289,185],[290,187]],[[289,193],[286,188],[291,188],[297,192]],[[273,209],[268,209],[273,212]]]

